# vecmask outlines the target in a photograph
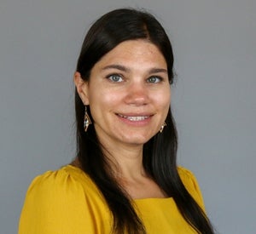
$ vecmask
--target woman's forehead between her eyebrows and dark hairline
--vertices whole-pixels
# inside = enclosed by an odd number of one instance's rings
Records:
[[[137,65],[149,63],[152,66],[165,66],[166,60],[154,43],[147,40],[129,40],[119,43],[115,48],[105,54],[96,66],[104,66],[111,63],[125,63],[125,65]]]

